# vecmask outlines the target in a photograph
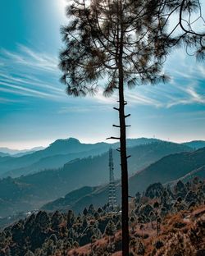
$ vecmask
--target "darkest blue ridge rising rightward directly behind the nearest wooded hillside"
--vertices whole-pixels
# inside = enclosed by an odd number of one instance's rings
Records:
[[[150,166],[134,174],[129,179],[130,196],[137,191],[142,192],[148,185],[154,182],[175,183],[182,180],[189,181],[194,176],[205,178],[205,148],[194,152],[175,153],[154,162]],[[82,195],[83,194],[83,195]],[[121,184],[116,185],[118,202],[121,202]],[[66,194],[64,198],[45,204],[42,208],[48,211],[57,209],[73,209],[76,213],[89,207],[91,203],[95,207],[107,203],[108,185],[98,187],[83,187],[80,190]]]

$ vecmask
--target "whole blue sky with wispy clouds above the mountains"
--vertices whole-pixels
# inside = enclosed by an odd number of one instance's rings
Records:
[[[203,4],[205,4],[203,0]],[[117,98],[71,98],[59,82],[64,0],[0,1],[0,147],[29,149],[58,138],[84,142],[117,135]],[[126,91],[128,136],[205,139],[205,66],[177,49],[166,85]]]

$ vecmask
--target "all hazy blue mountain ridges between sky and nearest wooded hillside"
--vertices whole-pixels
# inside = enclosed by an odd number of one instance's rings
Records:
[[[191,172],[204,177],[204,141],[175,144],[160,139],[127,139],[130,195],[160,181],[184,179]],[[90,204],[107,203],[108,150],[112,147],[117,200],[120,203],[121,169],[118,143],[83,144],[78,139],[57,139],[46,149],[0,157],[0,216],[34,209],[72,208],[79,213]],[[188,161],[188,162],[187,162]],[[84,191],[87,187],[88,191]],[[73,192],[72,192],[73,191]],[[70,197],[75,194],[75,199]],[[59,199],[63,198],[65,199]],[[53,200],[53,203],[50,203]],[[65,202],[64,202],[65,201]],[[59,203],[62,202],[62,203]]]

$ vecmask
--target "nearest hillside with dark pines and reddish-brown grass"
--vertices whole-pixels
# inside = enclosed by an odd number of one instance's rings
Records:
[[[204,200],[205,183],[198,178],[172,187],[155,183],[144,194],[136,193],[129,214],[131,255],[203,255],[199,252],[205,249]],[[109,213],[107,205],[93,208],[91,204],[79,215],[71,210],[39,211],[0,231],[1,256],[120,252],[121,213]]]

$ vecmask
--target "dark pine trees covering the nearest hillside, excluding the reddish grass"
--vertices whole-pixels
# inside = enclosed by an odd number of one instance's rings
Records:
[[[141,233],[135,235],[135,239],[148,238],[146,225],[149,223],[153,232],[159,235],[165,217],[202,205],[204,201],[205,182],[198,178],[185,184],[178,181],[172,187],[160,183],[149,185],[143,194],[137,193],[130,202],[130,234],[139,226]],[[109,255],[121,250],[121,240],[115,239],[115,234],[120,231],[120,208],[110,213],[108,205],[95,209],[91,204],[79,215],[71,210],[67,213],[40,211],[0,233],[0,255],[67,255],[72,249],[84,245],[89,245],[89,255]],[[93,246],[96,240],[107,237],[109,246],[106,250]],[[144,252],[142,240],[136,248]]]

